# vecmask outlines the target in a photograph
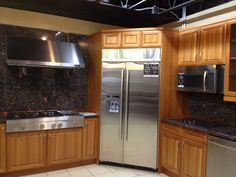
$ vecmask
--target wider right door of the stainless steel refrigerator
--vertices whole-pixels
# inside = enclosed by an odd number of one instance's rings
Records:
[[[156,169],[159,77],[145,77],[143,64],[126,69],[124,163]]]

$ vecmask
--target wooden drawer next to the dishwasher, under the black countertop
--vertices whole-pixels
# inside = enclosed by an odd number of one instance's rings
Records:
[[[182,136],[192,141],[207,143],[207,134],[192,130],[183,129]]]

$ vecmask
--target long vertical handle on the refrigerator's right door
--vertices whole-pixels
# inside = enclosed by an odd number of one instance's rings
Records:
[[[126,88],[125,88],[125,129],[126,129],[126,141],[128,140],[128,123],[129,123],[129,118],[128,118],[128,112],[129,112],[129,73],[130,71],[127,70],[126,74]]]

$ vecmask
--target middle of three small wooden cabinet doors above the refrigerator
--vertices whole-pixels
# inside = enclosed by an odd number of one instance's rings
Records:
[[[141,45],[140,31],[122,32],[123,48],[140,47],[140,45]]]

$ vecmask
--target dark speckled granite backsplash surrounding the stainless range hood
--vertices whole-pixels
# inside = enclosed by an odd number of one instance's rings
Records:
[[[27,110],[74,110],[87,104],[87,68],[49,69],[6,65],[8,36],[81,43],[87,36],[57,31],[0,25],[0,112]],[[24,45],[24,44],[22,44]],[[86,58],[87,49],[82,48]],[[85,60],[85,63],[87,61]]]

